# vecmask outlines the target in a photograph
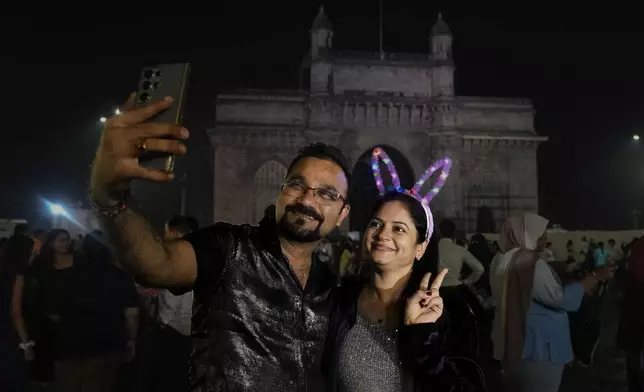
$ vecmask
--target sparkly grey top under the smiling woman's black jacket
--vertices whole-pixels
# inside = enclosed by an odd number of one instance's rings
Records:
[[[398,330],[371,323],[360,312],[340,345],[340,392],[406,392],[413,379],[402,370]]]

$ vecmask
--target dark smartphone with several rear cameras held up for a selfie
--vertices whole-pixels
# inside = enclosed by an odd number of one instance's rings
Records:
[[[190,78],[190,64],[159,64],[143,67],[136,90],[135,107],[140,108],[165,97],[174,98],[168,110],[150,118],[150,122],[181,124]],[[141,166],[174,172],[175,156],[159,152],[144,152],[139,157]]]

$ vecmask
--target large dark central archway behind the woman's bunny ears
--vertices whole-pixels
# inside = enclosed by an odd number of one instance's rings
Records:
[[[401,185],[407,189],[411,188],[416,180],[414,170],[407,158],[393,147],[386,145],[380,147],[385,150],[396,166]],[[363,233],[366,229],[373,207],[379,197],[378,189],[373,179],[373,172],[371,171],[372,151],[373,149],[369,149],[358,158],[351,173],[349,228],[351,231],[359,231],[360,233]],[[383,181],[386,185],[390,185],[391,177],[389,172],[382,162],[380,162],[380,165]]]

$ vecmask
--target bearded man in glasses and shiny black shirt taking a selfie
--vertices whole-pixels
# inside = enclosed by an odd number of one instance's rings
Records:
[[[129,104],[106,122],[90,185],[102,226],[140,282],[194,290],[193,390],[322,391],[334,279],[312,253],[349,213],[346,159],[324,144],[305,147],[287,170],[273,219],[259,227],[217,223],[164,241],[128,208],[127,194],[133,178],[173,177],[140,166],[142,151],[186,152],[186,129],[143,123],[171,104]]]

